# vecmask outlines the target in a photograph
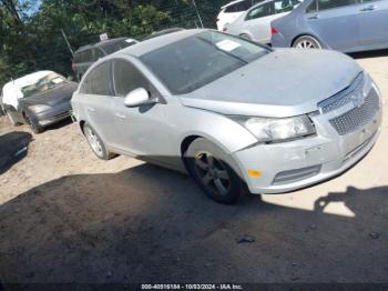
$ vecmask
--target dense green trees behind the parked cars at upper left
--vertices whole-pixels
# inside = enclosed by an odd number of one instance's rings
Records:
[[[192,0],[0,0],[0,86],[37,70],[71,73],[73,49],[110,38],[141,39],[170,27],[200,26]],[[196,0],[205,27],[215,27],[221,4],[227,0]]]

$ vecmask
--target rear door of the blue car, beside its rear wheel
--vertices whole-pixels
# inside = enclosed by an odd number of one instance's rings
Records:
[[[315,0],[305,21],[315,36],[334,50],[349,51],[358,46],[357,0]]]

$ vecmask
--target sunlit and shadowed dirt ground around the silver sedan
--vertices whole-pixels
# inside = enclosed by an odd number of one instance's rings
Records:
[[[388,51],[355,57],[388,97]],[[0,118],[1,281],[387,283],[387,148],[386,119],[344,175],[225,207],[183,174],[99,161],[70,122]]]

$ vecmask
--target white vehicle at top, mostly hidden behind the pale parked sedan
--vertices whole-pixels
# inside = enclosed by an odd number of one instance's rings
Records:
[[[244,11],[248,10],[254,4],[263,2],[264,0],[235,0],[221,8],[217,17],[217,29],[224,30],[225,24],[235,21]]]

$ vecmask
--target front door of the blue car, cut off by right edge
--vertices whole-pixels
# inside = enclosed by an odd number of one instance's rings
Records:
[[[358,0],[359,46],[365,49],[388,47],[388,0]]]

